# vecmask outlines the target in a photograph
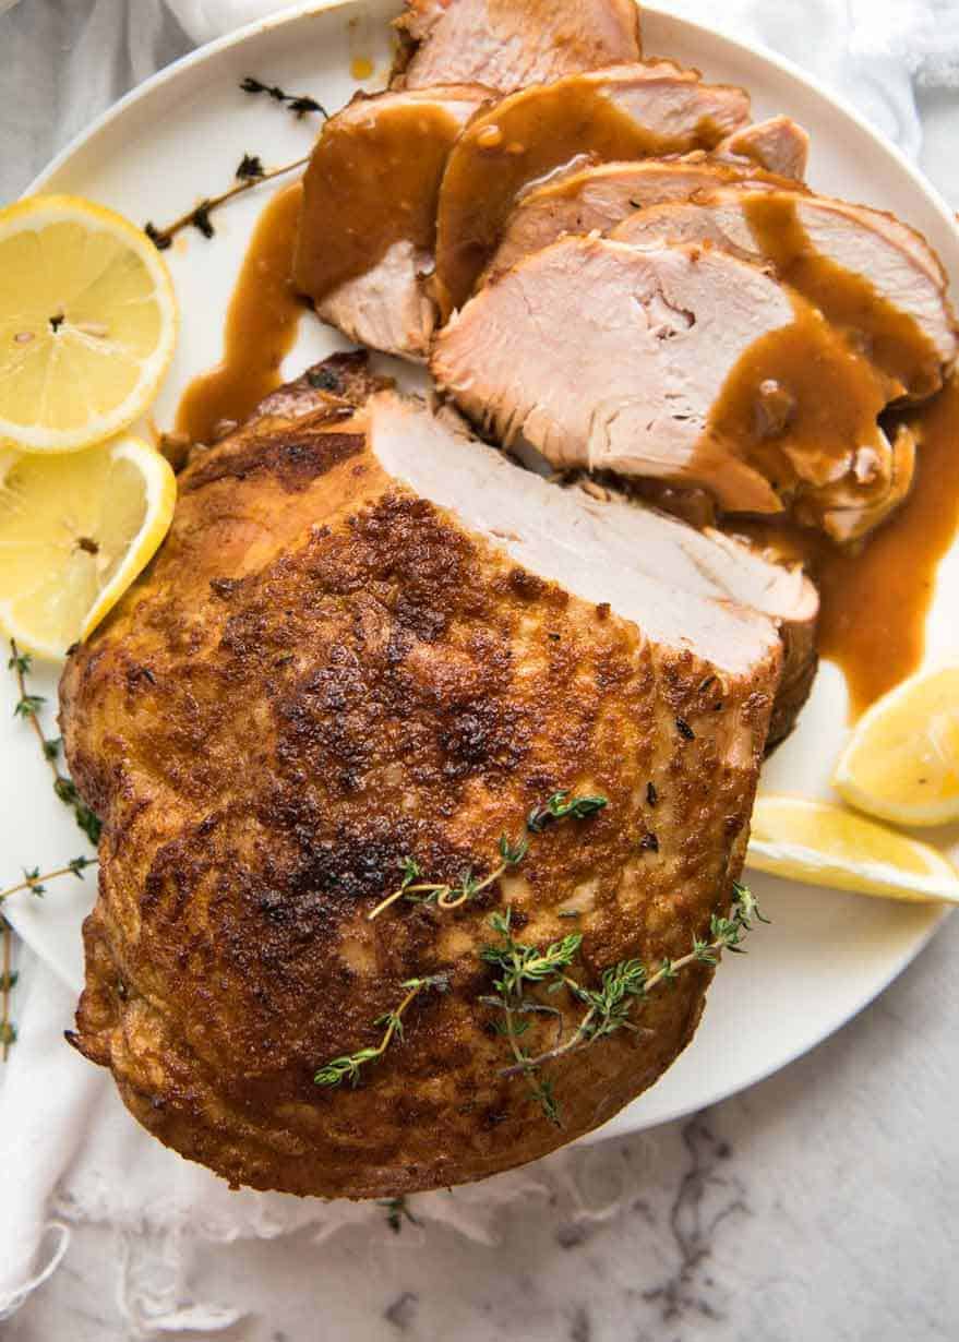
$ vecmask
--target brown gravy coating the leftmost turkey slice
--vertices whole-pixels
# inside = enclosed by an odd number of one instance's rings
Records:
[[[303,178],[296,287],[315,301],[409,242],[432,254],[436,203],[449,149],[473,102],[436,97],[327,122]],[[358,105],[362,107],[362,103]]]

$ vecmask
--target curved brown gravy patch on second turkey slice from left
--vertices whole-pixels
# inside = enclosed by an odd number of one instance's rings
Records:
[[[437,298],[448,315],[472,293],[519,192],[589,154],[596,161],[712,149],[730,130],[711,118],[661,136],[582,75],[522,89],[476,115],[449,154],[436,234]]]

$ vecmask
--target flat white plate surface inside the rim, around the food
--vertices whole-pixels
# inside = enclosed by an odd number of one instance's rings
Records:
[[[397,0],[300,7],[205,47],[118,103],[32,189],[76,192],[138,221],[168,221],[227,185],[244,153],[258,153],[272,165],[308,149],[317,119],[296,122],[267,98],[243,94],[237,85],[244,75],[339,107],[359,87],[350,76],[353,58],[374,62],[376,74],[365,87],[382,85],[390,59],[388,19],[397,9]],[[697,66],[708,79],[746,86],[756,119],[786,111],[807,126],[811,184],[892,209],[921,228],[959,291],[959,235],[948,209],[853,113],[769,55],[649,7],[644,7],[642,23],[646,51]],[[259,188],[217,213],[213,242],[190,232],[166,254],[184,321],[154,412],[161,427],[172,424],[186,381],[220,357],[227,302],[270,189]],[[304,319],[284,372],[294,376],[339,345],[319,322]],[[955,609],[956,593],[959,549],[940,570],[929,656],[956,650],[947,611],[950,601]],[[40,679],[38,688],[54,702],[52,675]],[[12,682],[7,702],[12,707]],[[846,730],[845,710],[842,678],[824,666],[799,729],[769,765],[765,786],[828,796],[829,769]],[[5,883],[20,867],[55,866],[79,852],[82,843],[51,794],[36,742],[8,711],[0,718],[0,876]],[[748,957],[728,957],[693,1044],[604,1135],[700,1108],[798,1057],[900,973],[940,919],[932,906],[862,899],[763,876],[751,883],[773,926],[754,934]],[[17,930],[74,986],[82,981],[79,925],[93,892],[93,879],[82,886],[62,880],[51,884],[43,902],[20,898],[9,906]]]

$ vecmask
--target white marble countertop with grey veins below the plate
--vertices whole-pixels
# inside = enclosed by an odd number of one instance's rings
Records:
[[[959,93],[921,111],[923,166],[959,207]],[[0,126],[16,115],[4,107]],[[4,199],[24,181],[0,181]],[[245,1299],[256,1278],[270,1302],[213,1335],[954,1342],[956,965],[954,918],[820,1048],[692,1119],[582,1149],[569,1188],[499,1213],[494,1244],[406,1223],[373,1239],[350,1228],[325,1244],[209,1245],[197,1261],[208,1295]],[[123,1252],[110,1231],[80,1228],[68,1261],[1,1327],[5,1342],[129,1337],[111,1295]]]

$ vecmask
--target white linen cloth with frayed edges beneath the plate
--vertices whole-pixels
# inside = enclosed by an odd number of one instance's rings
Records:
[[[0,113],[7,132],[0,193],[23,189],[102,107],[192,43],[280,8],[271,0],[31,0],[15,7],[0,20],[8,93]],[[727,0],[720,13],[707,0],[672,0],[669,8],[799,60],[912,154],[920,146],[913,83],[959,85],[959,9],[951,0]],[[0,870],[3,878],[13,875]],[[27,922],[21,930],[30,935]],[[372,1233],[388,1233],[382,1209],[229,1193],[205,1169],[166,1151],[129,1118],[109,1076],[64,1047],[76,985],[63,982],[63,965],[30,951],[19,958],[20,1039],[0,1068],[0,1319],[68,1252],[71,1221],[107,1223],[129,1236],[118,1296],[135,1335],[216,1330],[237,1318],[237,1308],[185,1303],[185,1266],[197,1236],[227,1244],[310,1224],[323,1237],[358,1220],[369,1221]],[[455,1197],[421,1196],[417,1216],[488,1240],[504,1200],[569,1188],[579,1158],[559,1153],[532,1172]],[[156,1235],[164,1236],[160,1253],[144,1248]]]

